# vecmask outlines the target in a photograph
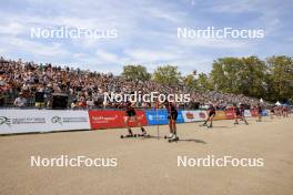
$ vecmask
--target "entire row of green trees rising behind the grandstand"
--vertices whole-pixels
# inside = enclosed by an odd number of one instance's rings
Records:
[[[195,74],[195,73],[194,73]],[[189,74],[181,78],[176,66],[159,66],[151,75],[142,65],[125,65],[122,75],[128,80],[161,84],[184,83],[189,91],[215,90],[234,94],[262,98],[269,101],[293,102],[293,59],[280,55],[265,61],[257,57],[221,58],[213,62],[210,74]]]

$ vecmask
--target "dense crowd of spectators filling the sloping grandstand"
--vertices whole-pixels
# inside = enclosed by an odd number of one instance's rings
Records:
[[[216,103],[220,109],[231,104],[256,104],[257,100],[244,95],[220,93],[215,91],[189,91],[178,85],[163,85],[154,81],[128,81],[112,73],[91,72],[89,70],[58,66],[51,63],[37,64],[0,59],[0,106],[18,107],[50,107],[52,94],[67,94],[68,107],[71,109],[104,109],[117,107],[118,103],[104,103],[104,92],[131,93],[141,91],[142,94],[160,92],[164,94],[191,94],[191,102],[181,107],[194,109],[209,103]],[[36,94],[43,94],[43,102],[36,102]],[[152,107],[145,102],[138,102],[138,107]]]

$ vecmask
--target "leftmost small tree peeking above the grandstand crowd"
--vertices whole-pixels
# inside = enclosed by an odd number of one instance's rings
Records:
[[[142,65],[124,65],[122,76],[131,81],[149,81],[151,74]]]

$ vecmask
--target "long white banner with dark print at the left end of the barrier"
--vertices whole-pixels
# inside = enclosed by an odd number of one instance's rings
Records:
[[[88,111],[0,110],[0,134],[90,130]]]

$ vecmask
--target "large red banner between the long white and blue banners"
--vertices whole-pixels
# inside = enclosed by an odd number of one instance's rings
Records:
[[[92,130],[125,127],[124,111],[89,111],[90,124]],[[146,117],[143,111],[137,111],[138,121],[146,125]],[[138,126],[133,119],[129,122],[130,126]]]

